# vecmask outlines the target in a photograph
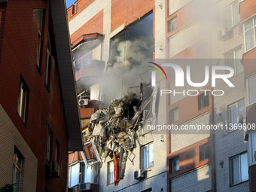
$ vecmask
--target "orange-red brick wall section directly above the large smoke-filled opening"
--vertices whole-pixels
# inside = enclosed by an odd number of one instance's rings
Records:
[[[112,0],[111,1],[111,32],[119,26],[127,26],[133,21],[140,19],[154,9],[154,0]]]

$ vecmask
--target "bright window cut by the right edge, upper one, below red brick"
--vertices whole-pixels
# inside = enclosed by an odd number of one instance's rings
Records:
[[[244,24],[246,51],[251,50],[255,47],[255,27],[256,17],[247,20]]]

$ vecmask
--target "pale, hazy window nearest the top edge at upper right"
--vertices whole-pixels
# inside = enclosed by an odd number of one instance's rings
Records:
[[[236,1],[224,10],[225,26],[230,29],[239,23],[239,2]]]

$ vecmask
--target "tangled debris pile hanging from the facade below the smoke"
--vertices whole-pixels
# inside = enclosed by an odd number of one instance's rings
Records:
[[[114,184],[124,177],[129,151],[136,148],[136,131],[142,128],[145,111],[151,111],[154,93],[148,85],[140,86],[140,96],[135,93],[122,99],[112,99],[108,107],[100,106],[91,117],[85,132],[84,161],[86,166],[104,163],[109,156],[114,163]],[[149,94],[145,94],[149,91]],[[146,97],[148,96],[148,98]],[[152,100],[153,99],[153,100]],[[142,107],[144,106],[144,107]],[[144,112],[143,112],[144,111]],[[154,113],[153,113],[154,114]],[[143,117],[144,116],[144,117]]]

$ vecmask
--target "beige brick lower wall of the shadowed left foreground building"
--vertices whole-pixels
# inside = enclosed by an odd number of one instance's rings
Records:
[[[2,167],[0,187],[13,182],[14,146],[16,146],[24,157],[23,191],[35,192],[38,160],[2,105],[0,105],[0,127],[0,157],[5,157],[0,160],[0,167]]]

